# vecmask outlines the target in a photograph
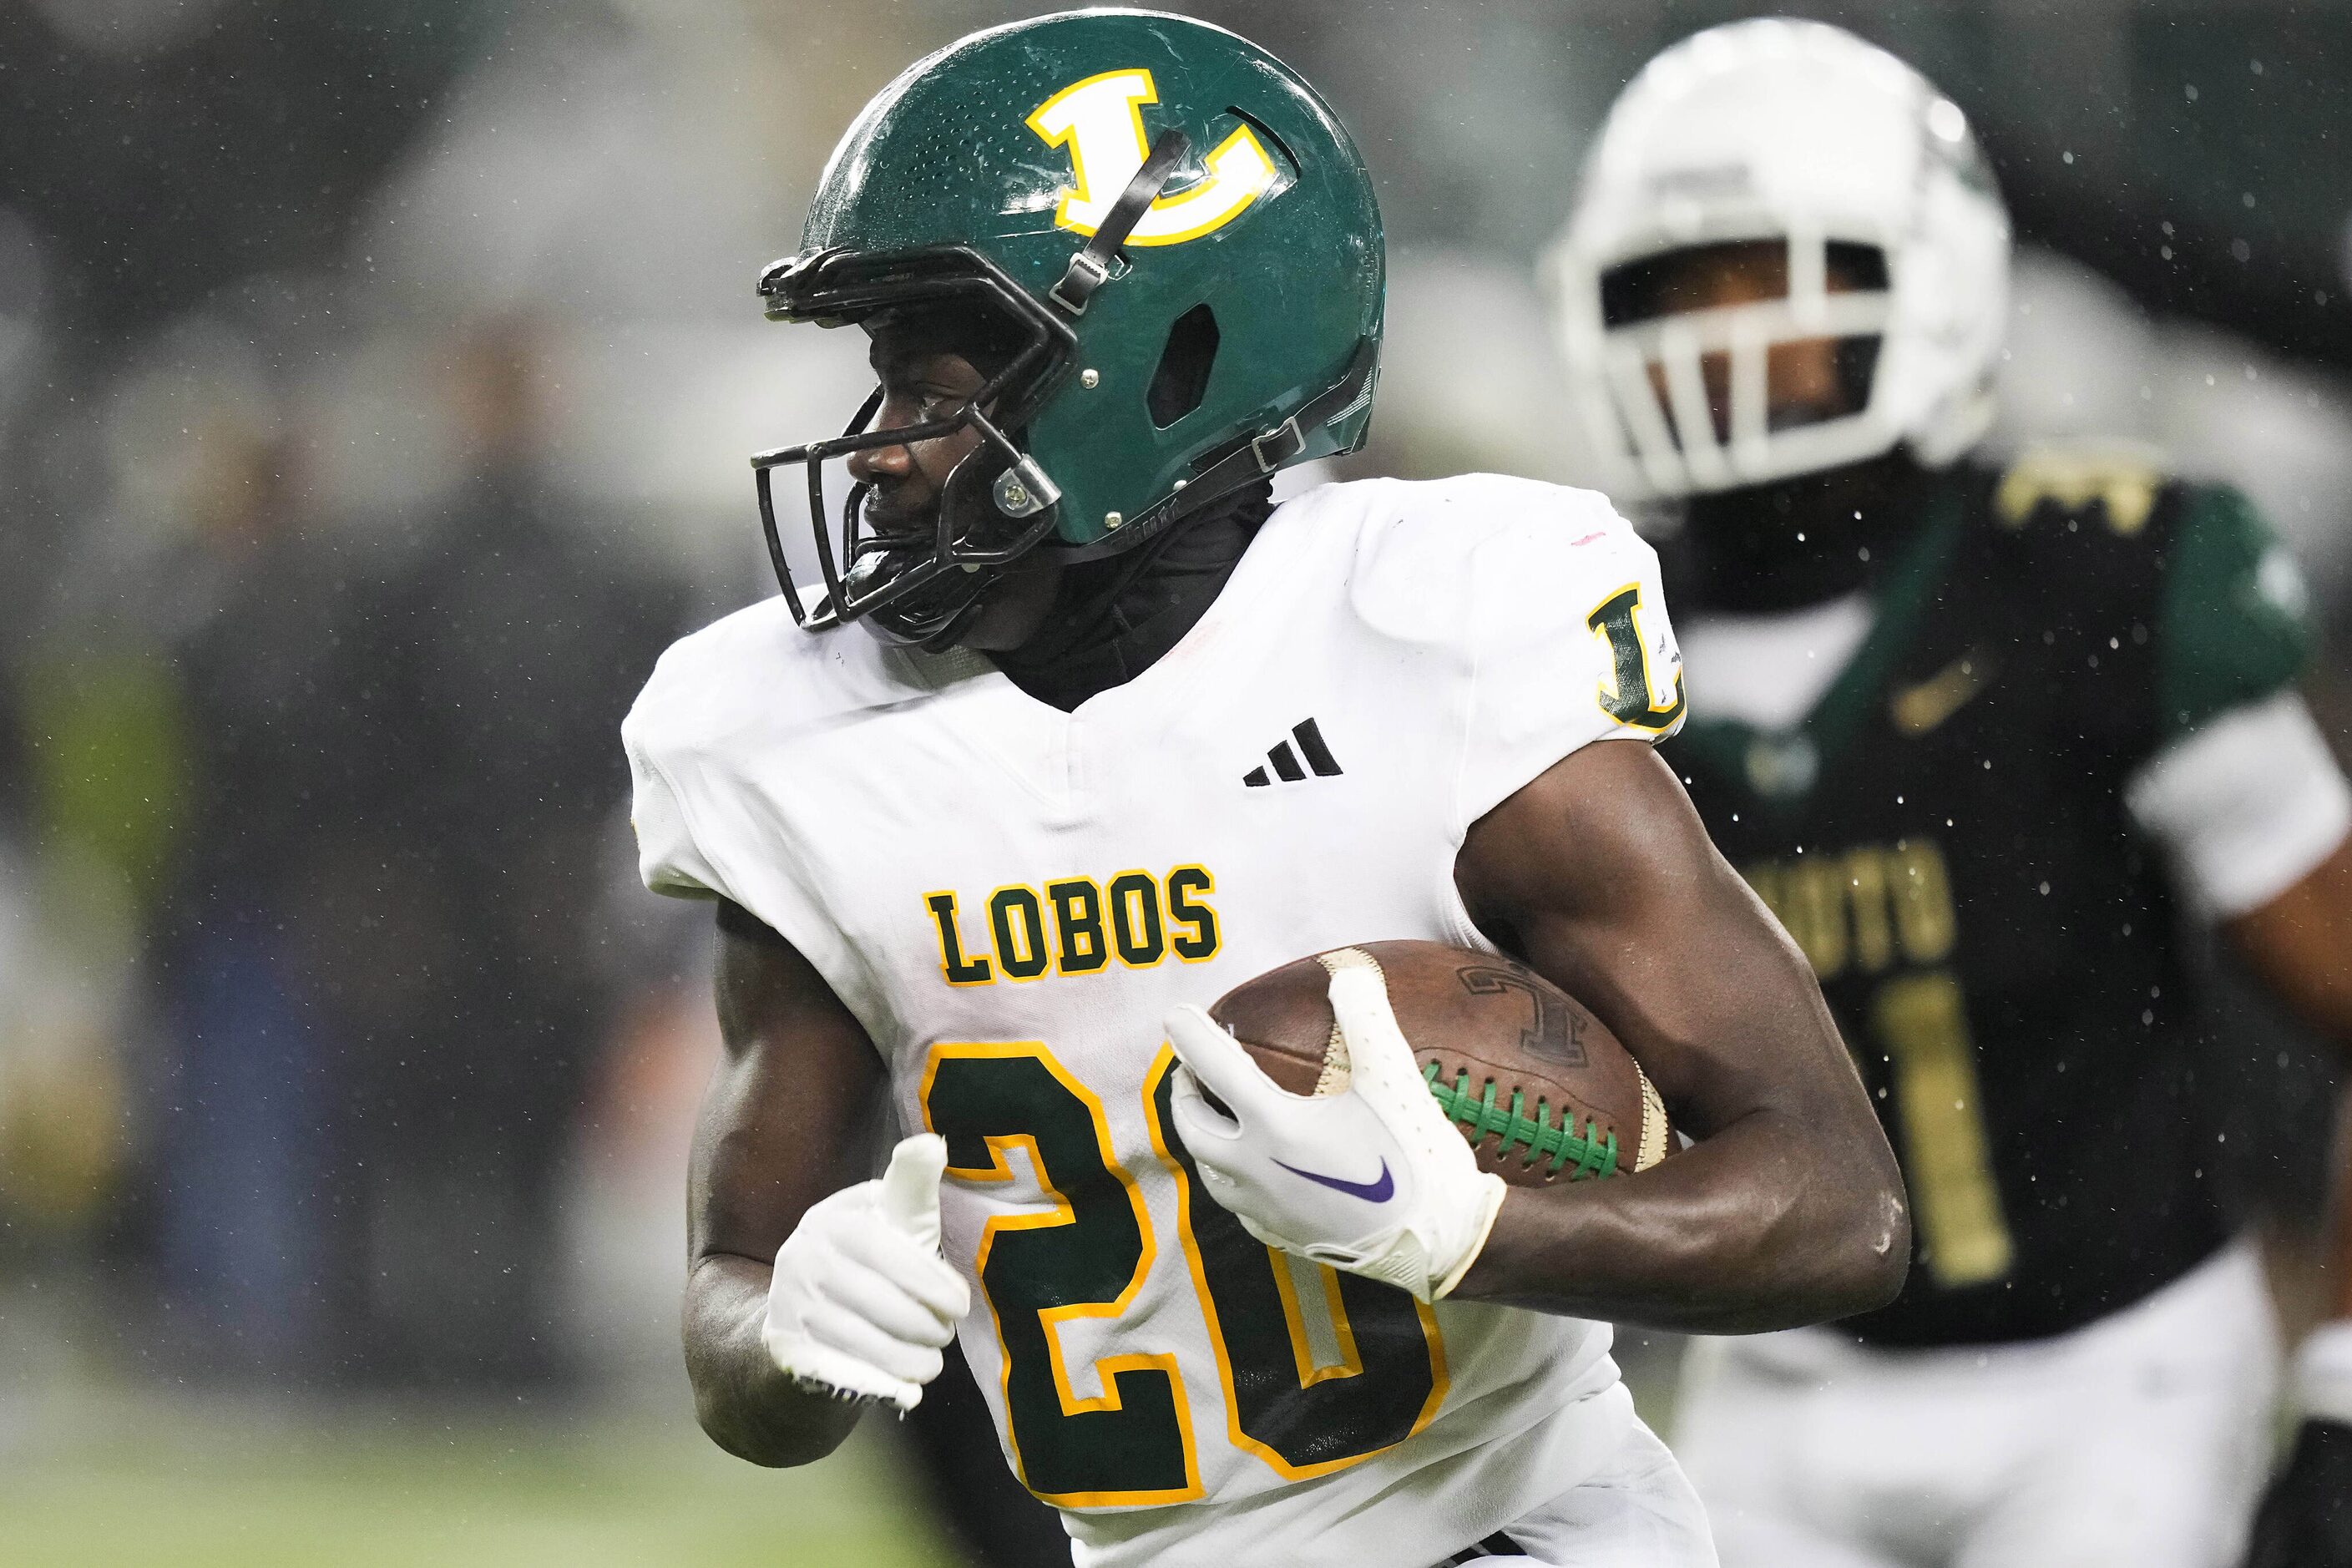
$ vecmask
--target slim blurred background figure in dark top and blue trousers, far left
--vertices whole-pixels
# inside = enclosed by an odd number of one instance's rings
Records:
[[[341,583],[294,440],[221,414],[198,454],[158,583],[183,776],[155,943],[172,1041],[148,1086],[155,1248],[167,1338],[193,1363],[301,1375],[322,1349],[341,1098],[308,905],[355,773]]]

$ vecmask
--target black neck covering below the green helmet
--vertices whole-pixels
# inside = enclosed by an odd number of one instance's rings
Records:
[[[1070,712],[1152,668],[1223,592],[1272,515],[1272,484],[1251,484],[1127,555],[1065,567],[1042,630],[990,654],[1004,677]]]

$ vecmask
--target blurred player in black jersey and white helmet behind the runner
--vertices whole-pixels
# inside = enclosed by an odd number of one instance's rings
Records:
[[[2006,263],[1962,110],[1792,21],[1656,59],[1552,261],[1613,494],[1679,524],[1668,759],[1915,1204],[1893,1305],[1693,1359],[1677,1448],[1729,1568],[2218,1568],[2270,1458],[2180,924],[2352,1044],[2352,795],[2244,498],[2119,449],[1971,461]],[[2347,1356],[2352,1319],[2305,1352],[2279,1519],[2352,1507],[2321,1493]]]

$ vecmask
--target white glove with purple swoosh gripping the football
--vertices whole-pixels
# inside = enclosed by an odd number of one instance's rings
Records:
[[[1258,1241],[1439,1300],[1486,1246],[1503,1178],[1437,1110],[1371,954],[1343,947],[1324,966],[1345,1063],[1317,1095],[1279,1088],[1202,1009],[1169,1016],[1176,1135]]]

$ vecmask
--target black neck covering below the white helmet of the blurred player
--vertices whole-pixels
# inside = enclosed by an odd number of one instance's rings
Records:
[[[1672,550],[1693,609],[1764,614],[1865,585],[1910,536],[1929,473],[1896,449],[1867,463],[1693,496]]]

